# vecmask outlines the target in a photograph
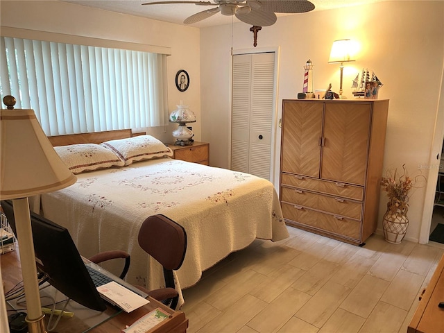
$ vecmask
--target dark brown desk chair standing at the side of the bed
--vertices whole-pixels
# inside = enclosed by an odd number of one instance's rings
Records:
[[[187,251],[187,232],[178,223],[167,216],[157,214],[149,216],[139,230],[139,246],[148,255],[151,255],[164,268],[165,288],[146,291],[143,287],[136,286],[148,293],[149,296],[176,309],[179,293],[173,278],[173,271],[182,266]]]

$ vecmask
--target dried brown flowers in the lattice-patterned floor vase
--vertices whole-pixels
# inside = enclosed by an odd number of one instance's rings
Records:
[[[387,176],[382,177],[381,187],[383,191],[387,192],[388,203],[387,208],[392,214],[397,212],[402,212],[407,214],[409,210],[409,193],[413,187],[416,186],[418,182],[426,180],[425,176],[418,175],[413,178],[407,173],[405,164],[402,164],[402,169],[404,173],[401,176],[397,176],[396,173],[398,169],[387,171]]]

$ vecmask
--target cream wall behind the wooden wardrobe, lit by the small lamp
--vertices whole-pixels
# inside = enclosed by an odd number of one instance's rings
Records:
[[[384,1],[278,17],[276,24],[259,31],[256,48],[280,49],[278,112],[282,99],[296,99],[302,92],[303,66],[308,59],[314,65],[314,89],[332,83],[333,90],[339,91],[339,64],[327,63],[330,48],[334,40],[356,40],[360,51],[356,62],[345,64],[344,95],[353,97],[352,80],[363,67],[375,71],[384,84],[379,99],[390,99],[384,168],[401,168],[405,163],[415,175],[420,166],[427,166],[422,173],[430,182],[436,181],[434,157],[439,149],[431,151],[430,147],[444,65],[443,17],[443,1]],[[228,167],[231,42],[234,50],[252,49],[249,28],[234,24],[232,41],[230,25],[200,29],[200,76],[205,83],[202,138],[211,143],[210,164],[217,167]],[[278,133],[280,137],[279,129]],[[279,139],[276,147],[280,147]],[[275,179],[279,181],[278,175]],[[385,205],[383,194],[379,228]],[[418,241],[425,206],[430,206],[425,203],[425,187],[416,189],[410,201],[407,239]]]

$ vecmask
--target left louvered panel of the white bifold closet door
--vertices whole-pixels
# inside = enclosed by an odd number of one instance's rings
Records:
[[[248,173],[251,54],[233,57],[231,169]]]

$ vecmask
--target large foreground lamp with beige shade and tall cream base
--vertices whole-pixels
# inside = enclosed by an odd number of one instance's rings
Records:
[[[46,332],[37,282],[37,267],[28,197],[56,191],[76,182],[54,151],[33,110],[14,109],[5,96],[0,114],[0,199],[14,205],[29,332]]]

